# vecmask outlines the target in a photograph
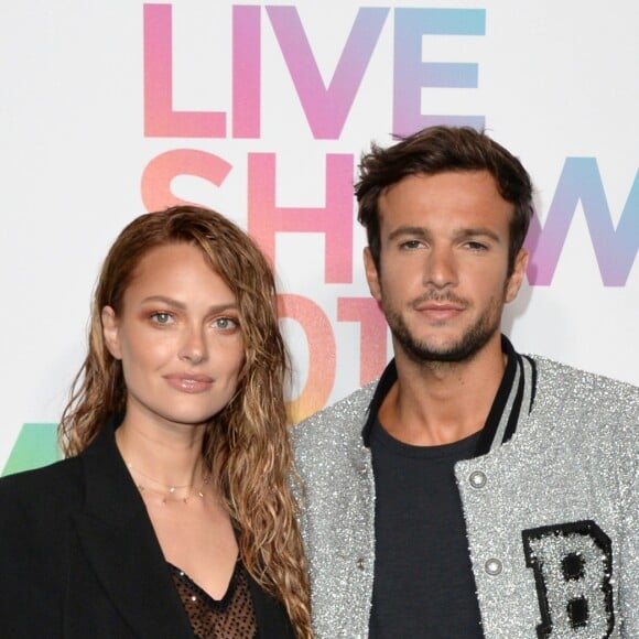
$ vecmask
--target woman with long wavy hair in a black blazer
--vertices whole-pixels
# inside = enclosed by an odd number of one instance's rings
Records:
[[[273,275],[215,212],[127,226],[59,427],[0,481],[2,637],[310,637]]]

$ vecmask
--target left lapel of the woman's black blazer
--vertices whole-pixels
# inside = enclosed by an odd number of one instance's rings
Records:
[[[106,424],[82,455],[85,511],[76,517],[83,550],[112,604],[140,637],[192,638],[147,508]]]

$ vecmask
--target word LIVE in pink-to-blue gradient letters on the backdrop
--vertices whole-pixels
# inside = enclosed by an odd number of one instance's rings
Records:
[[[263,9],[263,10],[262,10]],[[144,6],[144,132],[163,138],[226,138],[226,111],[175,111],[173,96],[173,8]],[[339,139],[390,8],[360,8],[340,47],[337,65],[325,83],[320,74],[296,7],[232,7],[232,137],[261,137],[262,14],[268,15],[282,57],[316,140]],[[477,88],[475,62],[422,62],[427,35],[485,35],[483,9],[393,10],[392,130],[414,131],[430,123],[484,126],[484,116],[422,112],[422,88]]]

